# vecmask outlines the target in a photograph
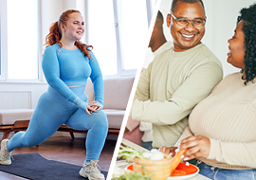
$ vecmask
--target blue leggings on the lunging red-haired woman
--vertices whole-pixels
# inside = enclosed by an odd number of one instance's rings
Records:
[[[77,89],[80,89],[77,87]],[[74,88],[74,90],[76,90]],[[74,91],[75,92],[75,91]],[[87,100],[81,89],[78,96]],[[64,99],[51,87],[38,100],[37,107],[30,119],[26,132],[19,132],[10,138],[7,148],[9,152],[16,148],[30,147],[44,142],[58,128],[66,124],[75,130],[88,130],[86,136],[86,163],[98,160],[108,131],[107,117],[103,111],[88,115],[74,103]]]

